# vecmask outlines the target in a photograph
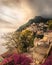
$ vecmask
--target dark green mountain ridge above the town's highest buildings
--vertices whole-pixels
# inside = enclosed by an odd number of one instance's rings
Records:
[[[19,29],[17,29],[17,31],[22,31],[24,30],[26,27],[29,27],[31,24],[33,23],[46,23],[47,21],[52,20],[50,18],[43,18],[41,16],[36,16],[33,19],[30,19],[26,24],[22,25],[21,27],[19,27]]]

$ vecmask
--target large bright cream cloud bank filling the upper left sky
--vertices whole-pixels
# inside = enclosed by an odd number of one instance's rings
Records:
[[[0,0],[0,19],[3,22],[10,22],[13,27],[18,28],[32,16],[32,10],[26,0]],[[10,27],[10,24],[8,25]]]

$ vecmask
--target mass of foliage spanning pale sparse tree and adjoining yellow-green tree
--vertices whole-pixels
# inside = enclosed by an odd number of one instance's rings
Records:
[[[17,52],[26,52],[27,48],[33,46],[33,33],[29,30],[23,30],[22,32],[8,33],[3,37],[5,39],[4,45],[10,51],[14,48]]]

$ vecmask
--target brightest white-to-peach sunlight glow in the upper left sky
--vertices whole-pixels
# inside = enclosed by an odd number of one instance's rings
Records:
[[[2,6],[0,16],[1,19],[13,24],[16,24],[17,22],[22,22],[23,24],[32,16],[32,12],[28,7],[9,8],[7,6]]]

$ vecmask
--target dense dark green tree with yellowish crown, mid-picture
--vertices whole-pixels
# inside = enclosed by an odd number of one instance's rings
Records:
[[[33,47],[33,33],[29,30],[23,30],[20,34],[20,43],[22,44],[22,51],[27,52],[28,47]]]

